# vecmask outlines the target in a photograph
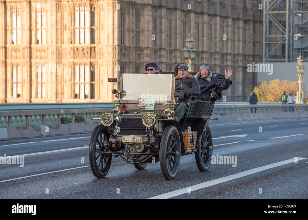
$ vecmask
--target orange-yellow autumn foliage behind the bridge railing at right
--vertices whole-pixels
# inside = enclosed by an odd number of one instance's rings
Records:
[[[286,91],[286,95],[288,96],[289,93],[296,96],[298,83],[297,81],[280,79],[273,79],[270,80],[270,82],[261,81],[253,88],[253,91],[258,97],[258,102],[281,102],[280,97],[283,94],[283,91]],[[304,92],[304,102],[308,103],[308,94],[304,84],[302,84],[302,91]],[[252,92],[250,92],[250,95],[251,94]]]

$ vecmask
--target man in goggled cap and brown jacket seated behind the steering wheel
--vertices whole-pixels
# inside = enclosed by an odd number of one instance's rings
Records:
[[[200,95],[200,87],[197,79],[190,73],[188,74],[188,66],[184,63],[179,63],[174,67],[174,72],[177,74],[174,77],[174,99],[179,103],[174,108],[174,119],[179,122],[187,109],[187,101],[190,95]]]

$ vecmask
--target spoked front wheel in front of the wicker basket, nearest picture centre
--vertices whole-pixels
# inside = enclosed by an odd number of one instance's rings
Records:
[[[173,146],[170,147],[171,144]],[[178,155],[169,156],[167,154],[168,152],[176,151],[179,152]],[[164,129],[159,149],[160,169],[165,179],[172,180],[175,178],[180,167],[180,158],[180,135],[175,126],[169,125]]]

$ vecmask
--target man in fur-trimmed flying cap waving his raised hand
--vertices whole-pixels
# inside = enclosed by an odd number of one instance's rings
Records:
[[[202,64],[199,68],[199,72],[194,76],[200,85],[201,94],[197,96],[198,99],[202,101],[216,101],[221,99],[222,90],[226,90],[230,87],[230,76],[233,73],[233,69],[225,70],[225,77],[223,79],[218,79],[214,75],[209,68],[208,64]],[[213,91],[213,97],[211,98],[212,89],[217,91]],[[216,96],[215,96],[216,95]],[[218,96],[217,96],[218,95]]]

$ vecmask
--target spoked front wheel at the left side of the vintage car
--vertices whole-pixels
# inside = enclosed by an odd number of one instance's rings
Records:
[[[105,138],[104,138],[105,137]],[[104,125],[97,125],[92,132],[89,144],[89,162],[90,168],[94,176],[102,178],[107,175],[112,156],[103,158],[103,155],[99,155],[99,151],[107,152],[104,147],[104,143],[109,140],[108,133],[104,130]],[[99,145],[97,149],[96,145]],[[100,166],[100,168],[99,168]]]

